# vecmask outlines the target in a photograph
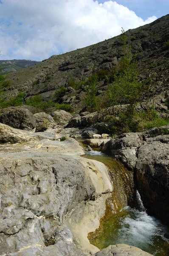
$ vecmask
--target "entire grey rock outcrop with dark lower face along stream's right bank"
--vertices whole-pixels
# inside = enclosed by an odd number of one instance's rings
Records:
[[[108,141],[102,151],[134,171],[147,211],[169,224],[169,135],[158,134],[169,134],[169,125],[144,134],[121,134]]]

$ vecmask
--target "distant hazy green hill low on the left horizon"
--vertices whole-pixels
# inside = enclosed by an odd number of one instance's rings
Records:
[[[21,70],[26,67],[32,67],[35,63],[39,61],[30,60],[6,60],[0,61],[0,74],[7,74],[13,71]]]

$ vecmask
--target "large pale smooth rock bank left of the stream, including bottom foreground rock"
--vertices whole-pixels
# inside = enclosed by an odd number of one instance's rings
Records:
[[[113,184],[103,163],[80,157],[76,140],[56,140],[55,129],[34,133],[7,125],[0,125],[0,135],[0,255],[149,255],[127,245],[98,252],[89,243]]]

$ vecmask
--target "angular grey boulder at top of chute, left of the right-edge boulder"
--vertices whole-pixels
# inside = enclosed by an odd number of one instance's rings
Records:
[[[142,133],[124,133],[108,141],[101,151],[111,154],[124,163],[129,169],[133,170],[137,161],[136,153],[142,143]]]

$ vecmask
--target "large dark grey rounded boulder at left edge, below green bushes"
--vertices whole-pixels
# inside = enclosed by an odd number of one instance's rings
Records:
[[[12,107],[1,110],[0,122],[27,131],[36,127],[36,119],[27,108]]]

